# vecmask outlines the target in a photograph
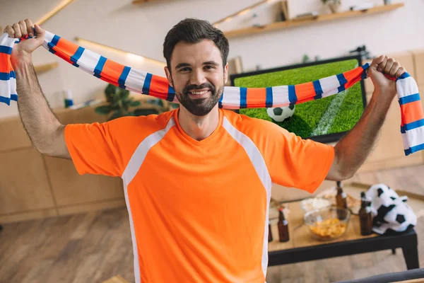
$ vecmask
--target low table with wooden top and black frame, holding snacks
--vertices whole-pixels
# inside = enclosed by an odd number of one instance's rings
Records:
[[[271,221],[273,241],[268,244],[269,266],[402,248],[408,270],[419,268],[418,241],[413,229],[396,236],[361,236],[359,217],[352,214],[343,236],[332,241],[318,241],[312,237],[307,226],[302,225],[304,212],[300,202],[284,205],[290,210],[286,216],[290,241],[278,241],[276,221]]]

